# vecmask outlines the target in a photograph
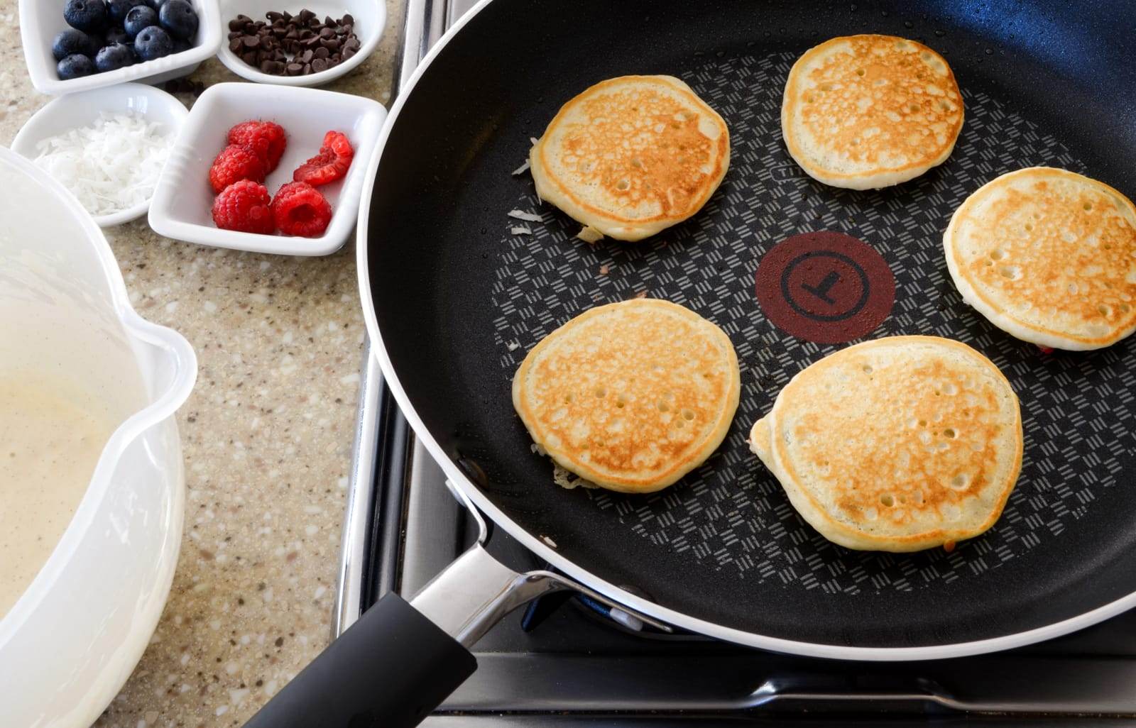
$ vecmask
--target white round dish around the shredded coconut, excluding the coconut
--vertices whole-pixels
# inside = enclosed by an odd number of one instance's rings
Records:
[[[170,143],[190,116],[189,110],[174,97],[140,83],[83,91],[52,99],[33,114],[11,141],[11,151],[27,159],[35,159],[39,156],[35,145],[41,140],[90,126],[102,112],[127,111],[158,124],[161,133],[172,137]],[[142,217],[149,208],[150,200],[147,200],[111,215],[93,217],[99,227],[114,227]]]

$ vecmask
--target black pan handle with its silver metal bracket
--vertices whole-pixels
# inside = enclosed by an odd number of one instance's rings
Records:
[[[608,597],[551,571],[518,574],[485,551],[486,528],[408,604],[387,594],[284,686],[244,728],[403,728],[421,722],[477,668],[469,652],[502,617],[549,592]],[[627,608],[642,621],[666,625]]]

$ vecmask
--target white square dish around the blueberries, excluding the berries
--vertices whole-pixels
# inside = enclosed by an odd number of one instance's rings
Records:
[[[198,35],[190,50],[118,70],[61,81],[56,72],[56,59],[51,56],[51,41],[59,31],[68,27],[64,20],[64,0],[19,0],[19,40],[24,45],[24,61],[32,85],[41,93],[58,95],[126,81],[159,83],[193,73],[201,61],[217,53],[225,33],[222,32],[217,0],[190,2],[198,11]]]

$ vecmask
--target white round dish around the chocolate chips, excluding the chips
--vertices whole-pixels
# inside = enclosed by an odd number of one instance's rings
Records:
[[[237,76],[257,83],[273,83],[283,86],[321,86],[366,60],[378,45],[379,39],[383,37],[383,28],[386,27],[386,2],[383,0],[340,0],[339,2],[311,0],[310,2],[292,3],[282,3],[279,0],[220,0],[223,35],[225,39],[228,37],[228,22],[237,15],[245,15],[253,20],[264,20],[265,14],[269,10],[277,12],[287,10],[294,15],[303,9],[311,10],[320,18],[332,16],[337,19],[350,12],[356,20],[354,34],[361,44],[359,51],[335,68],[307,76],[273,76],[261,73],[259,68],[253,68],[228,50],[227,40],[222,41],[217,57],[220,58],[220,62],[225,64],[226,68]]]

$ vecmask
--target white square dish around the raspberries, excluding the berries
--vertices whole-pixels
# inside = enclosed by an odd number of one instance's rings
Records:
[[[292,171],[315,157],[329,131],[343,132],[354,149],[342,179],[319,191],[332,206],[321,237],[260,235],[223,231],[214,225],[209,167],[227,144],[228,129],[249,119],[275,122],[287,134],[287,149],[265,186],[274,195],[292,181]],[[343,246],[354,228],[364,175],[386,120],[386,109],[362,97],[252,83],[219,83],[197,100],[182,126],[150,202],[150,227],[160,235],[258,253],[326,256]]]

